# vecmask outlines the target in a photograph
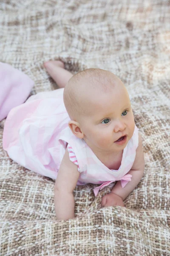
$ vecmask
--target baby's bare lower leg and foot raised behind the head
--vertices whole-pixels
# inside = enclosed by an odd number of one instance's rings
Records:
[[[73,76],[73,74],[65,70],[62,61],[47,61],[44,63],[44,67],[60,88],[65,87],[65,84]]]

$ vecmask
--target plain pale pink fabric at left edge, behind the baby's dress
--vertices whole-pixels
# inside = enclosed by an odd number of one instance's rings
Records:
[[[25,102],[33,86],[26,74],[0,62],[0,121],[12,108]]]

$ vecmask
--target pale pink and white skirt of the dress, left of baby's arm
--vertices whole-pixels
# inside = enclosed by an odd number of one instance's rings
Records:
[[[3,148],[12,160],[52,179],[57,177],[67,147],[67,143],[59,142],[70,120],[63,90],[37,93],[12,108],[3,131]]]

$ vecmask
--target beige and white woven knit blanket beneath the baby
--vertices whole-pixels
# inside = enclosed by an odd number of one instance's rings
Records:
[[[101,208],[113,185],[96,198],[95,185],[77,186],[76,218],[57,221],[54,180],[8,158],[1,122],[0,255],[169,256],[170,2],[1,0],[0,61],[33,79],[37,93],[57,88],[43,67],[49,59],[122,79],[142,134],[144,177],[127,208]]]

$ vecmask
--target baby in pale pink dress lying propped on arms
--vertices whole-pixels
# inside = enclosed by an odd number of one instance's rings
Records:
[[[144,174],[142,138],[124,84],[101,69],[73,76],[61,61],[49,61],[45,67],[65,88],[38,93],[13,108],[6,119],[3,148],[20,165],[56,179],[59,220],[74,218],[77,184],[99,184],[97,195],[117,181],[101,204],[123,207]]]

